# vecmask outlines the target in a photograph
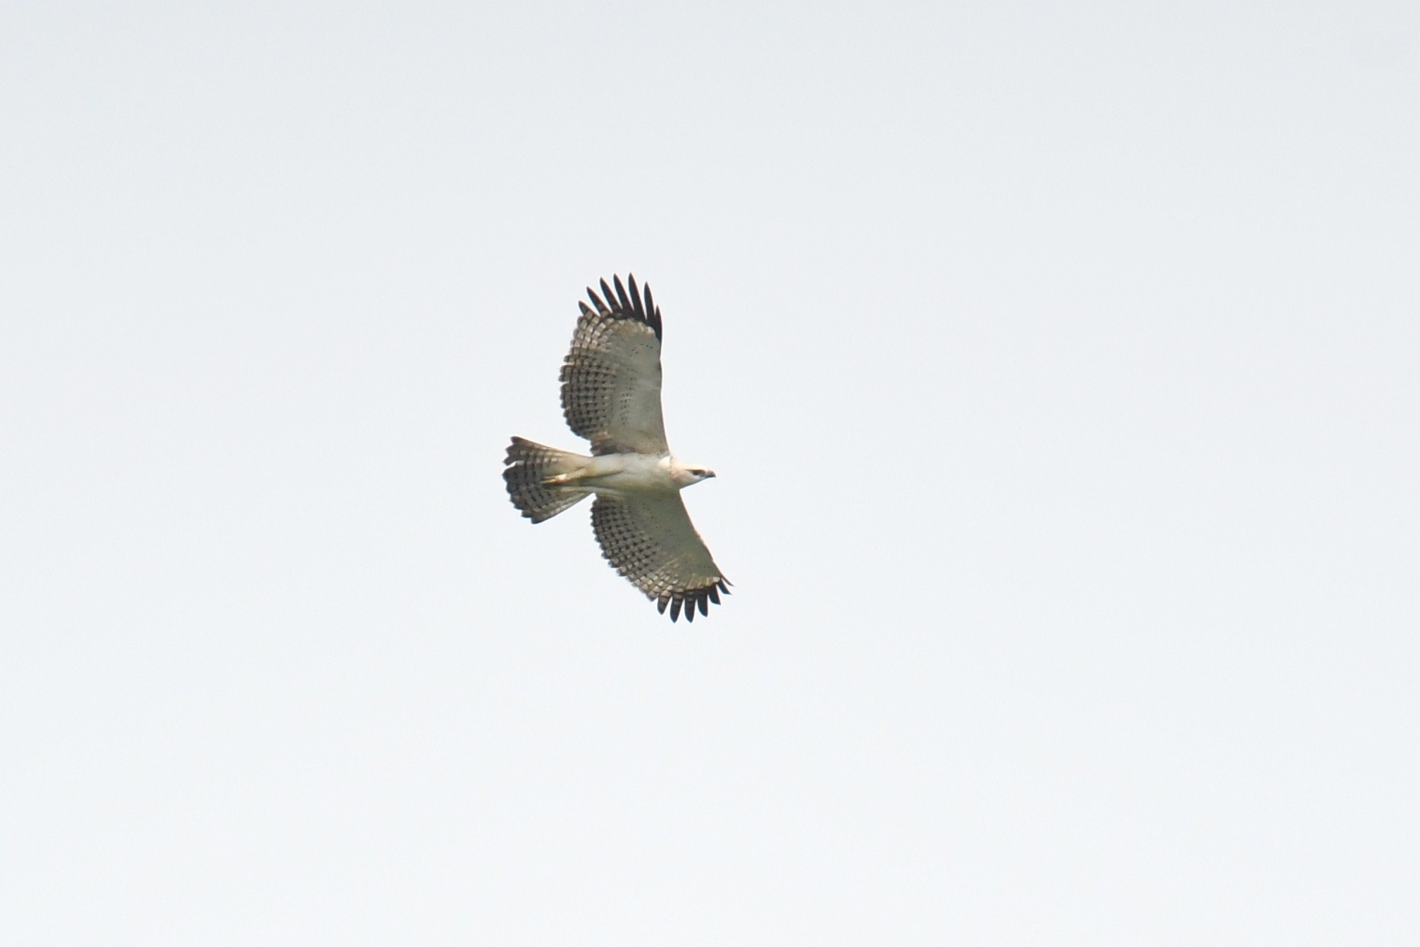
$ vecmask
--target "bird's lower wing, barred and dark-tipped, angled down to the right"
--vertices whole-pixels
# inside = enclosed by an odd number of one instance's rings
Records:
[[[696,619],[696,608],[709,615],[710,602],[720,603],[730,581],[710,558],[710,549],[696,528],[679,493],[612,497],[598,494],[592,504],[592,530],[602,555],[630,584],[656,602],[660,612],[670,606],[670,620]]]

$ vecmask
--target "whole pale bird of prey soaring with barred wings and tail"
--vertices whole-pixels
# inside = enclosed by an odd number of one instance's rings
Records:
[[[680,500],[680,491],[714,476],[676,460],[660,417],[660,310],[650,287],[630,291],[621,277],[591,287],[592,305],[572,332],[562,362],[562,415],[572,433],[592,442],[592,456],[544,447],[514,437],[503,480],[513,505],[532,522],[551,520],[584,497],[592,501],[592,531],[602,555],[632,585],[670,606],[674,622],[684,611],[710,613],[710,602],[730,593],[730,581]],[[615,291],[613,291],[615,287]]]

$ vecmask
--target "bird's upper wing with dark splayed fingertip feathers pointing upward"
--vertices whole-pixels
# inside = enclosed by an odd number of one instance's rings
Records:
[[[650,287],[630,292],[621,277],[602,295],[588,287],[592,307],[579,302],[582,318],[572,349],[562,362],[562,415],[568,427],[592,442],[594,454],[665,454],[666,423],[660,416],[660,310]],[[605,297],[605,301],[602,301]]]

